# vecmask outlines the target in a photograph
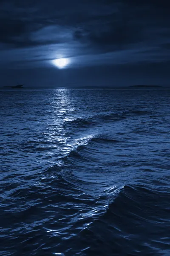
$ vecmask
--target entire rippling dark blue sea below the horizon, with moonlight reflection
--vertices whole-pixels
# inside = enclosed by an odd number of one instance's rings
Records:
[[[169,131],[170,90],[1,91],[1,255],[170,255]]]

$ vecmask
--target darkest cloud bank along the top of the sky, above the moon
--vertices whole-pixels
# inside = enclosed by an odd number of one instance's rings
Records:
[[[0,3],[3,12],[0,41],[16,47],[58,44],[60,41],[53,35],[53,39],[41,42],[31,36],[37,29],[56,25],[68,26],[74,40],[82,44],[89,42],[94,47],[124,49],[126,45],[147,39],[145,29],[159,24],[164,28],[168,26],[165,21],[170,21],[169,15],[163,15],[169,6],[167,1],[7,0]]]

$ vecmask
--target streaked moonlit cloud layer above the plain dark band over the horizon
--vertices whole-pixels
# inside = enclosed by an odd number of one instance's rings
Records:
[[[1,0],[0,67],[72,68],[170,58],[170,4],[158,0]]]

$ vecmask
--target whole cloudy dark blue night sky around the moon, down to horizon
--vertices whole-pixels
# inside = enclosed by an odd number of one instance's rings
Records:
[[[168,86],[169,64],[167,0],[0,0],[1,86]]]

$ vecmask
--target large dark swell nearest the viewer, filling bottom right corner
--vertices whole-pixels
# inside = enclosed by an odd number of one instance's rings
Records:
[[[81,239],[90,241],[86,255],[168,255],[169,196],[144,185],[124,186],[106,212],[82,231]]]

